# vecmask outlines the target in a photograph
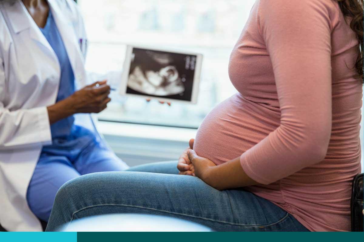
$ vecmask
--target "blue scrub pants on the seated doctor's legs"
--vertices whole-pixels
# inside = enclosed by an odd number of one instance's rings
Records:
[[[87,142],[80,138],[75,144],[68,141],[63,148],[43,148],[27,192],[29,208],[40,220],[48,221],[56,193],[67,181],[89,173],[128,168],[103,141],[85,139]]]

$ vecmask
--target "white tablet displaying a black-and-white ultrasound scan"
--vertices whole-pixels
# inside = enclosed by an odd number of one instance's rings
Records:
[[[196,103],[202,54],[128,45],[119,92],[166,102]]]

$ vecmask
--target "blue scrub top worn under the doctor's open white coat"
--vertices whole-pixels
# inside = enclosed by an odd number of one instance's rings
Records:
[[[40,28],[40,31],[46,37],[59,60],[61,75],[56,99],[56,102],[59,102],[75,92],[75,76],[51,11],[49,11],[46,26]],[[85,145],[85,143],[95,141],[95,135],[90,130],[76,126],[74,121],[74,116],[69,116],[52,124],[51,134],[53,144],[43,147],[43,152],[49,149],[67,149],[70,151],[71,149],[80,148],[78,146]]]

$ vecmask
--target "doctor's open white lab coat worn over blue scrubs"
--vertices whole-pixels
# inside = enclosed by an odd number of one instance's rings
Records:
[[[82,17],[73,0],[48,3],[76,86],[83,87]],[[56,101],[59,80],[58,58],[23,3],[0,3],[0,224],[8,231],[41,231],[26,194],[42,146],[52,143],[46,107]],[[75,122],[97,133],[90,115],[76,115]]]

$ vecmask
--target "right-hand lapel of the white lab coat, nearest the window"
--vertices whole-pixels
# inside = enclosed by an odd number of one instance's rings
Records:
[[[54,0],[48,0],[58,31],[62,37],[68,58],[74,71],[76,81],[80,86],[87,83],[84,70],[84,60],[80,50],[79,40],[76,37],[71,19],[65,15]]]

